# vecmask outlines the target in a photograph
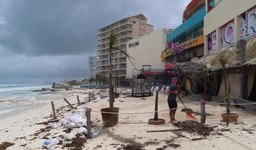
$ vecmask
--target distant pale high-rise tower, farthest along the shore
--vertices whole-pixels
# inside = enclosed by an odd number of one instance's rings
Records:
[[[97,75],[97,61],[99,60],[99,57],[97,57],[97,54],[92,54],[88,56],[88,69],[87,69],[87,76],[88,79],[95,78]]]

